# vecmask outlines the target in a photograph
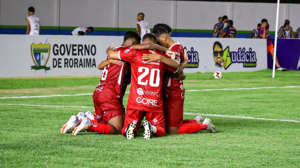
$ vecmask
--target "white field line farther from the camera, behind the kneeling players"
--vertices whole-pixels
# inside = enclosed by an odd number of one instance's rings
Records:
[[[253,89],[272,89],[272,88],[299,88],[300,86],[281,86],[281,87],[260,87],[260,88],[228,88],[228,89],[203,89],[203,90],[186,90],[187,91],[219,91],[219,90],[253,90]],[[129,93],[125,92],[125,93]],[[93,95],[92,93],[84,94],[59,94],[59,95],[42,95],[42,96],[19,96],[19,97],[0,97],[0,99],[22,99],[22,98],[37,98],[37,97],[65,97],[65,96],[85,96]]]

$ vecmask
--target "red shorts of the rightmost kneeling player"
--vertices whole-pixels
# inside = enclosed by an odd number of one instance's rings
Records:
[[[167,127],[179,127],[183,124],[183,104],[165,103],[164,112]]]

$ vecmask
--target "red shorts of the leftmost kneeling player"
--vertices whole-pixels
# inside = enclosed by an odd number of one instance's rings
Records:
[[[98,123],[107,124],[113,117],[123,115],[120,102],[114,103],[101,97],[94,97],[94,117]]]

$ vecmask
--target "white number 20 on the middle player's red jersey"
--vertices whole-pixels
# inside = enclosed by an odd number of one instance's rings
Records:
[[[143,72],[143,69],[145,69],[145,72]],[[137,84],[139,85],[147,85],[148,84],[148,80],[146,80],[146,82],[142,82],[142,79],[144,77],[146,77],[148,74],[149,74],[149,68],[146,68],[146,67],[140,67],[139,68],[139,72],[143,72],[143,74],[141,74],[139,77],[137,77]],[[154,76],[155,76],[155,72],[156,73],[156,81],[154,83]],[[153,87],[158,87],[159,86],[159,82],[160,82],[160,70],[159,69],[151,69],[151,72],[150,72],[150,79],[149,79],[149,85],[150,86],[153,86]]]

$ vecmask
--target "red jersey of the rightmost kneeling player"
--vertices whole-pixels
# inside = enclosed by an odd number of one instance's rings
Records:
[[[180,63],[184,60],[184,51],[183,47],[179,42],[176,42],[172,45],[169,50],[175,52],[176,57],[180,59]],[[177,71],[176,71],[177,72]],[[163,89],[164,89],[164,100],[170,103],[183,103],[184,101],[184,92],[182,80],[172,79],[171,72],[165,72],[163,77]]]

